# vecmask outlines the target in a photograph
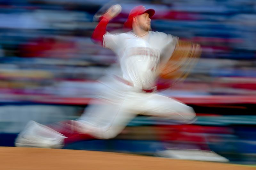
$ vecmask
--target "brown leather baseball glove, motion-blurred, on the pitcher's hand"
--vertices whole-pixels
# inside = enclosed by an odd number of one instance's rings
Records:
[[[173,83],[182,81],[188,76],[202,52],[199,44],[192,41],[181,41],[178,37],[175,38],[176,46],[174,50],[169,51],[171,57],[168,57],[167,62],[160,63],[158,67],[159,78],[172,80]]]

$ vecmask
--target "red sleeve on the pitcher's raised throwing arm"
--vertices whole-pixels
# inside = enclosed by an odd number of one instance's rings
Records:
[[[107,32],[108,22],[109,20],[106,17],[102,17],[99,24],[94,29],[91,39],[95,44],[103,46],[103,36]]]

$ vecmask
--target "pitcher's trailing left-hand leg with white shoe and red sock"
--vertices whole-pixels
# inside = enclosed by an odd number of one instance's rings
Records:
[[[90,110],[93,111],[91,114],[84,114],[77,121],[56,122],[48,126],[31,121],[16,138],[15,145],[61,148],[79,140],[113,138],[136,116],[127,112],[122,104],[91,106]]]

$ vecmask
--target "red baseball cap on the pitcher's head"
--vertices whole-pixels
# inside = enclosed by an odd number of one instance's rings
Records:
[[[155,10],[153,10],[153,9],[146,10],[145,6],[143,6],[143,5],[135,6],[130,11],[129,16],[124,23],[124,27],[132,28],[132,21],[133,21],[132,18],[136,17],[137,15],[144,14],[144,13],[148,13],[149,18],[151,18],[155,14]]]

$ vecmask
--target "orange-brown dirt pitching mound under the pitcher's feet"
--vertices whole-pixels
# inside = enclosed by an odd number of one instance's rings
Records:
[[[0,147],[0,169],[17,170],[249,170],[255,167],[176,160],[111,152],[67,149]]]

